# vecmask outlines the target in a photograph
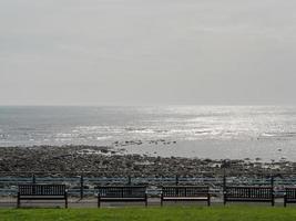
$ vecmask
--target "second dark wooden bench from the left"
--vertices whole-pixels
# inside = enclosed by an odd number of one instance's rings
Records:
[[[145,186],[98,187],[98,208],[101,202],[144,202],[147,207]]]

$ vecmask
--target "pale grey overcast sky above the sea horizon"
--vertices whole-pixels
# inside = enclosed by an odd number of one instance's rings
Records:
[[[295,0],[0,0],[0,104],[296,104],[295,11]]]

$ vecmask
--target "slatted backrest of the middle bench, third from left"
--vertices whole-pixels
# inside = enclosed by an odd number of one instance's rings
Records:
[[[204,186],[170,186],[162,188],[163,197],[206,197],[210,188]]]

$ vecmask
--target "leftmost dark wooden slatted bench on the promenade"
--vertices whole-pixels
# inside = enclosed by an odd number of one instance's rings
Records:
[[[64,200],[68,208],[68,193],[64,185],[19,185],[17,207],[21,200]]]

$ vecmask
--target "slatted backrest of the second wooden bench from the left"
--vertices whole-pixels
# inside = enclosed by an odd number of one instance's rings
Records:
[[[145,186],[98,187],[102,198],[145,198]]]

